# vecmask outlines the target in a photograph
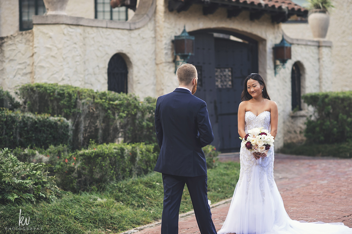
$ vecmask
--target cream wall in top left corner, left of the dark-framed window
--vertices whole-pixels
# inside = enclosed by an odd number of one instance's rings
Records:
[[[0,37],[19,31],[19,1],[0,0]]]

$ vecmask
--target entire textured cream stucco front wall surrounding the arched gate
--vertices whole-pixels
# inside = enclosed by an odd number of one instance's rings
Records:
[[[250,21],[249,13],[243,12],[238,17],[228,19],[226,10],[219,8],[214,14],[205,16],[200,5],[193,5],[186,12],[169,12],[165,1],[157,0],[154,17],[136,30],[63,24],[34,25],[33,35],[22,33],[18,39],[7,40],[7,43],[18,41],[17,44],[25,50],[15,45],[3,47],[6,52],[0,54],[4,57],[0,74],[6,78],[1,80],[1,84],[6,90],[12,90],[11,77],[18,77],[21,79],[19,84],[47,82],[107,90],[108,62],[115,53],[120,53],[128,66],[128,92],[136,93],[141,98],[158,97],[178,86],[171,41],[182,32],[183,25],[186,25],[188,32],[214,28],[256,39],[259,73],[265,78],[270,97],[277,102],[279,109],[276,148],[282,147],[284,141],[297,138],[298,133],[290,130],[297,124],[302,125],[302,117],[296,117],[296,120],[290,117],[291,68],[295,61],[300,61],[305,71],[303,90],[319,91],[319,49],[317,46],[293,45],[292,59],[275,76],[272,47],[280,42],[282,30],[280,25],[271,23],[269,15]],[[31,43],[33,46],[28,46]],[[11,59],[10,52],[16,52],[20,58]],[[325,58],[320,60],[320,64],[329,67],[328,61]],[[329,81],[328,76],[321,79]]]

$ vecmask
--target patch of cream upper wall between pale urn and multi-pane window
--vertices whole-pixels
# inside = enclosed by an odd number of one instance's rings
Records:
[[[66,7],[66,13],[71,16],[94,19],[94,0],[69,0]]]

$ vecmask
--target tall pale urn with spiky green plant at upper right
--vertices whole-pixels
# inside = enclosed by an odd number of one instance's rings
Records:
[[[334,6],[331,0],[308,0],[308,23],[314,38],[325,38],[329,27],[329,11]]]

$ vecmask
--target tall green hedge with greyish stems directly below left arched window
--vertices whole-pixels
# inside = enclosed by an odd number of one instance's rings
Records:
[[[58,84],[26,84],[19,88],[23,110],[71,120],[73,148],[98,143],[155,143],[155,98],[141,102],[133,94]]]

